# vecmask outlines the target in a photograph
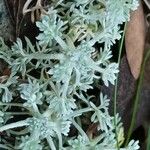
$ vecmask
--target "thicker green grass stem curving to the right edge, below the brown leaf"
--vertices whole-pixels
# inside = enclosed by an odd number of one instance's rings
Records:
[[[150,50],[147,51],[146,56],[143,60],[142,66],[141,66],[140,78],[139,78],[138,85],[137,85],[137,91],[136,91],[136,96],[135,96],[135,102],[134,102],[134,107],[133,107],[131,124],[130,124],[130,128],[129,128],[129,131],[128,131],[127,140],[126,140],[126,143],[125,143],[126,146],[129,143],[129,140],[130,140],[130,137],[131,137],[134,125],[135,125],[138,104],[140,102],[141,86],[142,86],[143,78],[144,78],[144,68],[145,68],[146,62],[147,62],[149,57],[150,57]]]

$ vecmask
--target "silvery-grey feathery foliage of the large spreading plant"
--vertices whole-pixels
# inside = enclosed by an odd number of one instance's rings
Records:
[[[100,93],[97,106],[86,92],[97,80],[106,86],[115,83],[119,70],[111,61],[111,46],[121,38],[120,25],[137,6],[138,0],[55,0],[36,23],[40,33],[35,45],[25,37],[26,46],[18,38],[8,48],[1,40],[0,58],[12,74],[0,83],[0,132],[18,136],[13,149],[118,150],[117,140],[122,146],[123,126],[118,115],[114,125],[110,100]],[[14,116],[7,115],[13,106],[28,118],[7,124]],[[81,126],[87,112],[101,131],[94,139]],[[19,127],[23,130],[10,131]],[[69,136],[71,127],[77,137]],[[132,140],[120,149],[138,150],[138,142]]]

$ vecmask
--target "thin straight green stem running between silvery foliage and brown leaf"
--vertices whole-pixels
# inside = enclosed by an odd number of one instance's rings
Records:
[[[119,56],[118,56],[118,64],[120,65],[121,61],[121,53],[122,53],[122,48],[123,48],[123,42],[124,42],[124,37],[125,37],[125,31],[126,31],[126,24],[124,26],[124,31],[120,43],[120,48],[119,48]],[[117,149],[119,150],[119,142],[118,142],[118,134],[117,134],[117,121],[116,121],[116,114],[117,114],[117,94],[118,94],[118,74],[116,77],[115,81],[115,90],[114,90],[114,97],[113,97],[113,102],[114,102],[114,125],[115,125],[115,135],[116,135],[116,141],[117,141]]]

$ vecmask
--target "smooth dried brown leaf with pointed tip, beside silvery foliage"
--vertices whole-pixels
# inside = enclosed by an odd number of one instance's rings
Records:
[[[143,52],[145,46],[145,19],[143,6],[140,3],[138,9],[131,13],[131,19],[127,24],[125,46],[130,70],[135,79],[139,77]]]

